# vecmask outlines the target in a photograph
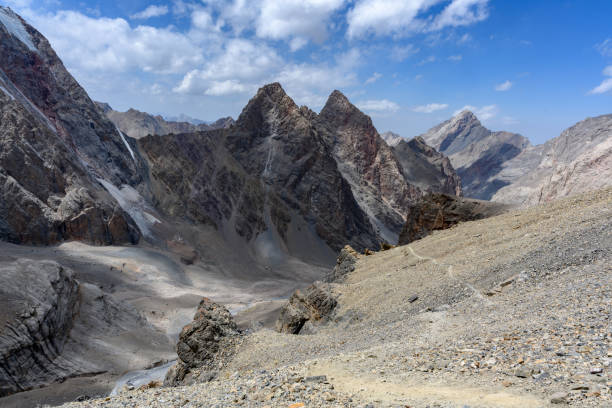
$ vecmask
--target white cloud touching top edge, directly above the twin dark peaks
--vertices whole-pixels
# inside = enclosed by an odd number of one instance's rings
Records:
[[[257,36],[274,40],[297,37],[301,39],[302,46],[307,39],[321,43],[327,39],[327,28],[332,14],[342,7],[344,2],[345,0],[263,0],[255,23]]]

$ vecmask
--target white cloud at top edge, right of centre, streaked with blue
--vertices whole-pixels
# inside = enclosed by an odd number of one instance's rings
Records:
[[[466,26],[488,17],[488,0],[452,0],[438,15],[424,16],[443,1],[358,0],[347,15],[347,36],[406,36],[449,26]]]

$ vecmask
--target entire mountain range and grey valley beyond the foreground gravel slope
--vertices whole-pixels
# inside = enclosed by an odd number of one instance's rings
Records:
[[[395,245],[428,193],[528,205],[611,184],[612,115],[540,146],[467,111],[404,140],[338,90],[317,113],[271,83],[235,121],[173,122],[92,101],[0,14],[0,397],[163,365],[202,296],[274,303],[345,245]]]

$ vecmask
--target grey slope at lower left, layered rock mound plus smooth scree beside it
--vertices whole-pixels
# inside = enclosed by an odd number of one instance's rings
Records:
[[[57,262],[4,255],[0,276],[0,397],[71,378],[116,376],[171,356],[166,336],[133,308]],[[138,356],[126,351],[133,347]],[[73,390],[73,398],[75,392],[81,391]],[[27,398],[17,404],[29,405]]]

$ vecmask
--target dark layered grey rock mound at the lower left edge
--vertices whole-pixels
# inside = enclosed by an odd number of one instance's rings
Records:
[[[0,273],[0,397],[73,374],[60,357],[79,311],[72,271],[18,261]]]

